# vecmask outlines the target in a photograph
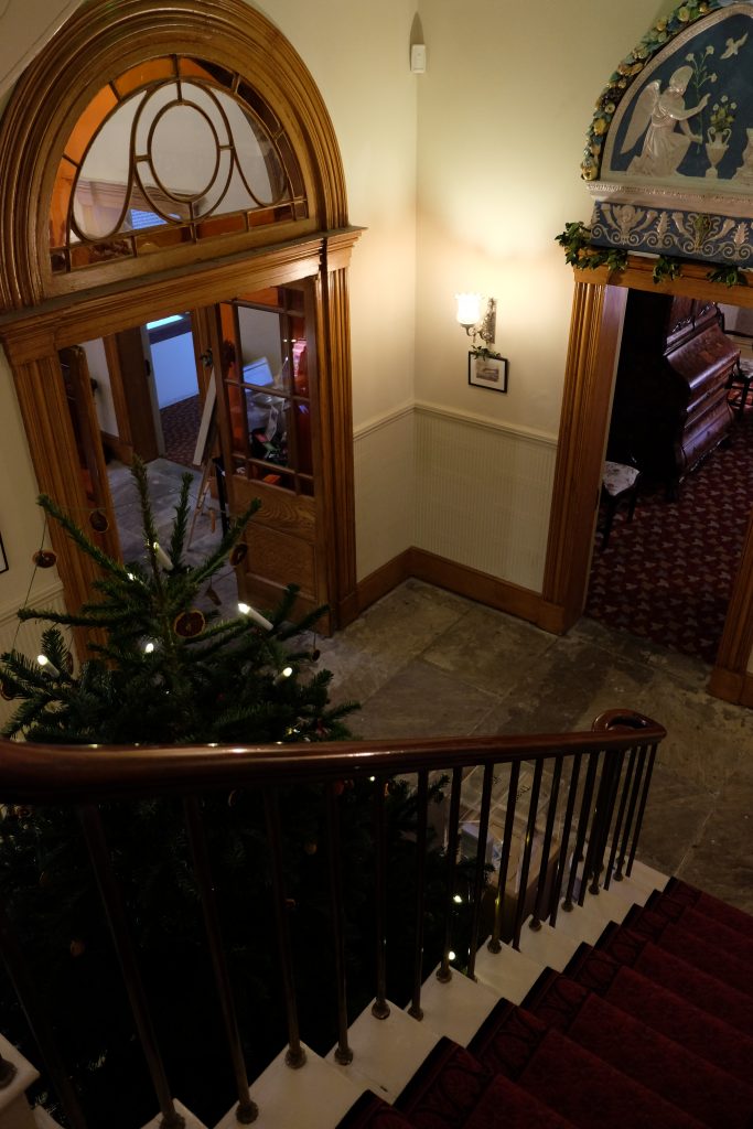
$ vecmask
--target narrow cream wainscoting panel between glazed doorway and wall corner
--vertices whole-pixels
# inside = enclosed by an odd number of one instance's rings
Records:
[[[406,405],[358,428],[356,546],[359,580],[413,544],[413,409]]]

